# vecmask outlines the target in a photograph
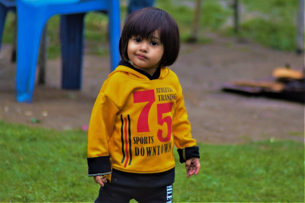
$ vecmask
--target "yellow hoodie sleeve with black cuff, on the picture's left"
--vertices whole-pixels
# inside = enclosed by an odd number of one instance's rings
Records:
[[[111,173],[108,141],[118,111],[118,107],[103,92],[100,92],[92,109],[88,129],[89,176],[103,176]]]

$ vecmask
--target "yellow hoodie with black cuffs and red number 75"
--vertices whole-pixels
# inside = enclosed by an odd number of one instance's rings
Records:
[[[88,130],[89,176],[114,183],[161,186],[174,182],[180,162],[199,157],[178,77],[166,67],[153,76],[120,62],[102,85]]]

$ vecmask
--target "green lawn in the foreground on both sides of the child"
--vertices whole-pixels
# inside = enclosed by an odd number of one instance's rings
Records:
[[[93,202],[87,133],[0,121],[0,202]],[[201,171],[186,178],[176,158],[174,202],[304,202],[304,144],[199,143]],[[131,201],[134,202],[134,201]]]

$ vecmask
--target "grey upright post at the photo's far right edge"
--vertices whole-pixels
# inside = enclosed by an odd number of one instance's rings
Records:
[[[304,52],[304,0],[299,0],[298,36],[296,53]]]

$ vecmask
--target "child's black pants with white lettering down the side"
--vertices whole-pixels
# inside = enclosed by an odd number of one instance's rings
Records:
[[[135,199],[139,203],[172,203],[172,189],[172,185],[132,187],[108,182],[100,187],[99,196],[94,202],[129,203]]]

